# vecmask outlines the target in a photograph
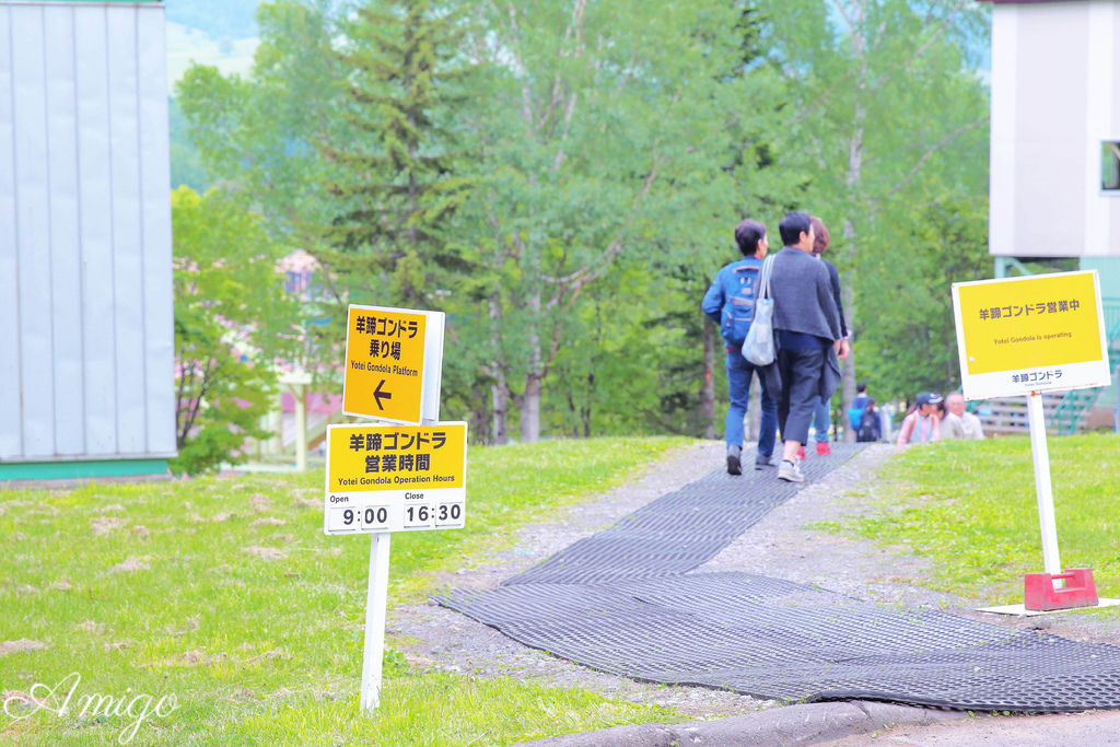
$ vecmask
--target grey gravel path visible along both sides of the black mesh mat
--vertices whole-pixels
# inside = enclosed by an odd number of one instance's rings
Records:
[[[932,591],[914,583],[913,579],[921,579],[927,572],[928,564],[906,548],[885,550],[871,542],[805,529],[814,522],[867,511],[862,505],[865,498],[848,494],[857,487],[874,494],[876,486],[869,476],[893,454],[895,448],[886,445],[865,449],[825,479],[809,485],[774,510],[697,572],[749,571],[816,583],[881,604],[941,608],[989,623],[1048,628],[1051,633],[1070,638],[1120,644],[1120,624],[1116,620],[1096,620],[1076,614],[1018,619],[976,613],[976,607],[983,606],[980,600]],[[651,464],[636,480],[566,510],[554,522],[515,531],[511,548],[445,575],[439,585],[459,589],[496,587],[502,580],[576,540],[610,526],[654,498],[715,468],[722,468],[722,442],[704,442],[683,449]],[[579,687],[612,698],[672,706],[696,719],[743,715],[778,706],[775,701],[726,691],[642,683],[597,672],[528,648],[494,628],[430,600],[391,609],[386,633],[398,638],[394,645],[409,661],[426,667]]]

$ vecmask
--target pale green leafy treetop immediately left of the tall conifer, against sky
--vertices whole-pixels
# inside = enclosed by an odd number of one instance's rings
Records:
[[[190,141],[212,184],[237,194],[277,240],[314,251],[329,221],[321,143],[340,127],[344,72],[334,0],[277,0],[256,12],[261,43],[249,77],[193,65],[176,84]]]

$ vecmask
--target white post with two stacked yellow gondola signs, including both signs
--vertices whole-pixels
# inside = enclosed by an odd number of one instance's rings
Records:
[[[361,688],[366,716],[381,702],[391,533],[465,522],[467,424],[439,422],[442,353],[441,312],[348,309],[343,410],[375,421],[327,429],[323,531],[371,535]]]

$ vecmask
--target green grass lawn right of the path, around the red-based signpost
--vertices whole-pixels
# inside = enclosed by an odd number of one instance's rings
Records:
[[[1092,568],[1098,594],[1120,597],[1120,438],[1051,438],[1048,448],[1062,564]],[[869,483],[877,512],[844,529],[930,558],[926,586],[1020,603],[1023,575],[1043,570],[1034,480],[1026,437],[911,447]]]

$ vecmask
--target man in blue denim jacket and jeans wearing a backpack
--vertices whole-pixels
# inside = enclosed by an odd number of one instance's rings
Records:
[[[724,267],[716,276],[701,308],[719,325],[727,352],[727,471],[741,475],[743,466],[743,418],[747,413],[750,394],[750,376],[755,366],[743,357],[743,340],[750,329],[755,314],[755,298],[763,260],[769,249],[766,226],[757,221],[745,220],[735,228],[735,242],[743,252],[743,259]],[[762,376],[758,379],[762,385]],[[758,454],[755,469],[769,466],[774,454],[774,431],[777,429],[777,404],[762,386],[762,424],[758,429]]]

